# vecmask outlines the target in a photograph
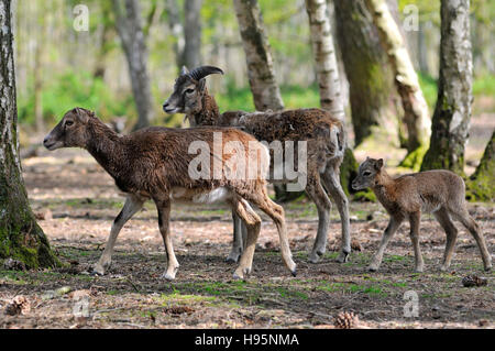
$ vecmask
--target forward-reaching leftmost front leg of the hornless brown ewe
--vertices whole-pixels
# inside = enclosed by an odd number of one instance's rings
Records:
[[[113,246],[116,245],[117,237],[119,237],[122,227],[134,216],[144,204],[145,199],[129,195],[125,199],[124,207],[120,211],[119,216],[113,221],[112,229],[110,230],[110,237],[108,238],[107,245],[98,263],[92,268],[96,274],[103,275],[110,267],[112,262]]]

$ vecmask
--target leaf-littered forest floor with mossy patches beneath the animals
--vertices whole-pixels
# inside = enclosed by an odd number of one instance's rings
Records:
[[[172,233],[180,268],[170,283],[160,277],[166,256],[148,202],[122,230],[109,273],[91,276],[87,271],[123,205],[113,180],[77,150],[41,150],[23,161],[23,168],[38,223],[66,266],[0,266],[0,328],[333,328],[340,311],[356,314],[358,328],[495,328],[495,274],[483,271],[477,246],[460,223],[450,272],[439,271],[446,235],[425,215],[425,273],[414,273],[408,223],[391,241],[380,271],[370,273],[366,266],[387,226],[381,206],[351,202],[352,238],[361,250],[344,264],[336,262],[340,223],[333,208],[328,253],[310,264],[317,211],[312,202],[298,200],[285,206],[297,277],[282,263],[275,226],[262,216],[254,272],[233,281],[235,265],[224,261],[232,238],[230,211],[221,205],[177,205]],[[495,205],[470,204],[470,212],[493,253]],[[468,275],[485,277],[487,285],[463,287]],[[406,292],[417,294],[418,317],[405,317]],[[15,296],[24,296],[31,308],[9,316],[4,310]]]

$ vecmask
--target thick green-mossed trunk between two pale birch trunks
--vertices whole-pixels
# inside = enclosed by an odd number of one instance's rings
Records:
[[[354,144],[372,134],[398,144],[393,73],[364,0],[334,0],[334,8],[339,46],[350,84]]]

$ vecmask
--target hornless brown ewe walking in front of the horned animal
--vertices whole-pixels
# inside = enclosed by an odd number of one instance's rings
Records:
[[[216,142],[219,140],[220,150]],[[242,218],[248,228],[248,243],[235,270],[235,278],[243,278],[251,272],[261,228],[261,219],[249,202],[254,204],[275,222],[284,263],[293,275],[296,274],[296,264],[292,259],[286,234],[284,209],[273,202],[266,191],[264,176],[270,164],[270,154],[253,136],[237,129],[212,127],[190,130],[154,127],[121,136],[105,125],[95,113],[76,108],[64,116],[43,143],[51,151],[59,147],[86,149],[113,177],[118,188],[128,194],[125,205],[113,222],[103,254],[94,268],[95,273],[105,274],[111,263],[113,245],[120,230],[146,200],[153,199],[158,210],[160,231],[167,254],[164,278],[174,279],[179,266],[168,228],[170,204],[174,201],[227,201]],[[207,161],[200,163],[199,167],[201,174],[207,172],[210,176],[198,177],[194,172],[190,174],[190,164],[197,158],[189,153],[193,143],[207,146]],[[242,152],[232,147],[231,152],[226,152],[229,143],[241,145],[245,151],[256,152]],[[217,166],[219,161],[222,168]],[[260,171],[257,174],[242,176],[229,173],[255,165]],[[193,168],[198,171],[199,167]],[[210,169],[213,169],[215,176],[211,176]]]

